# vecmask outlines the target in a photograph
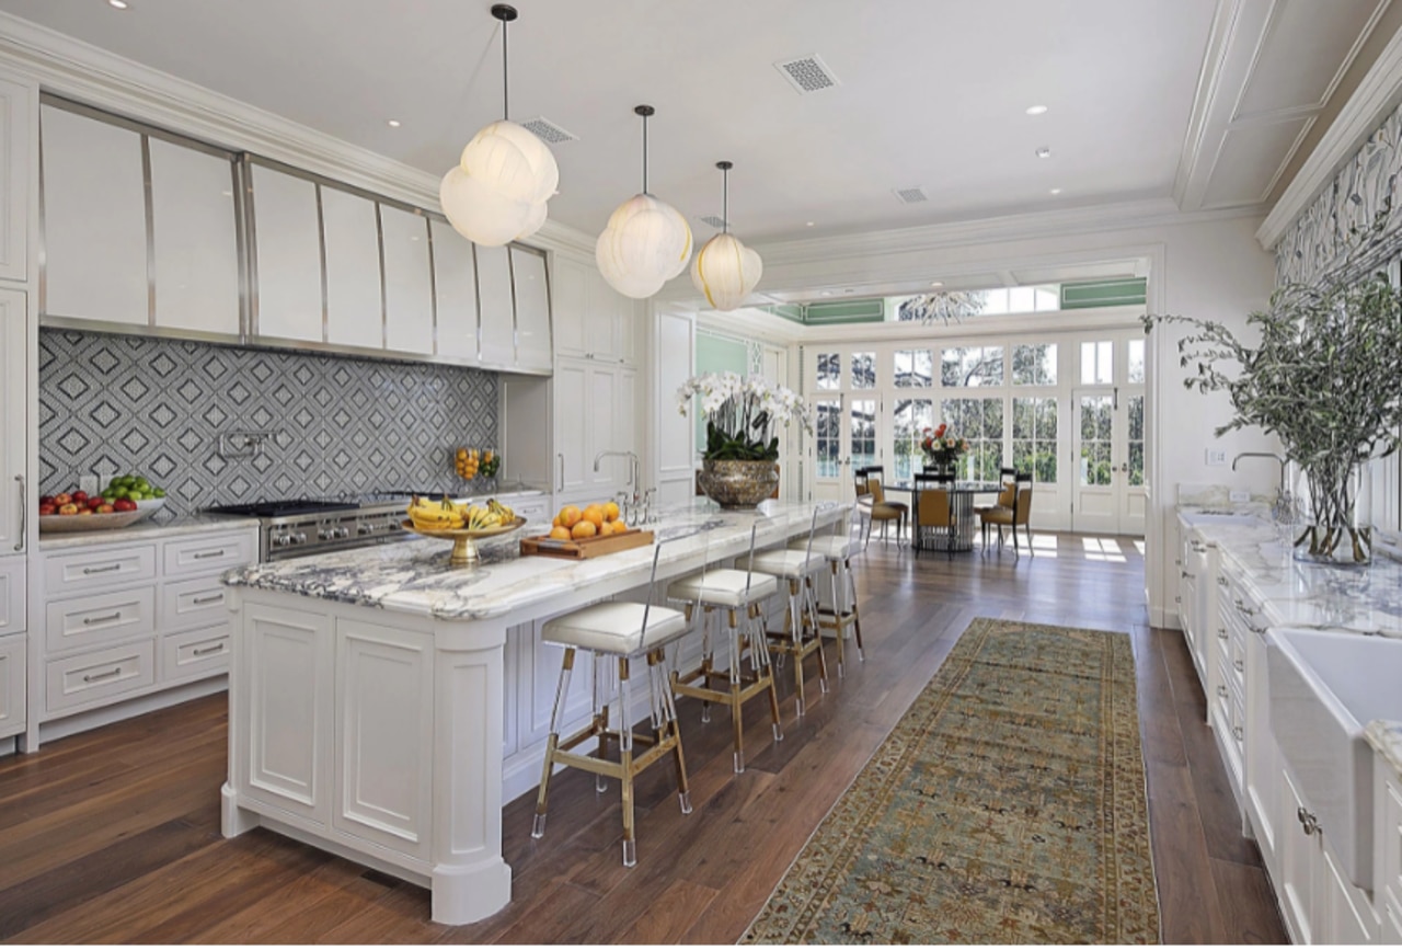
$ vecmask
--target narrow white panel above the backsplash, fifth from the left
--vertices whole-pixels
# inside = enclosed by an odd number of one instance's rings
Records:
[[[384,246],[386,347],[433,354],[433,288],[429,279],[428,219],[380,205]]]

